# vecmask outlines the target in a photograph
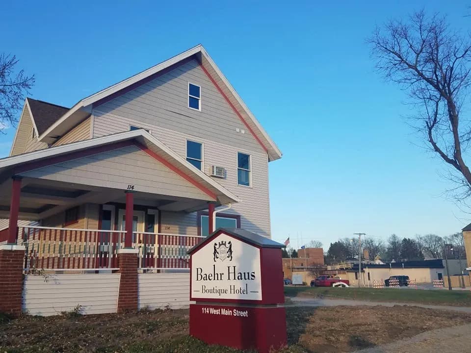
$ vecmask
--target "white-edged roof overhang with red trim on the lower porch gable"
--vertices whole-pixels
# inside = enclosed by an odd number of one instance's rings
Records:
[[[73,142],[44,150],[37,150],[2,158],[0,159],[0,180],[3,179],[1,176],[2,174],[5,174],[9,177],[11,174],[14,175],[17,173],[22,173],[26,170],[36,169],[38,168],[36,164],[40,163],[42,160],[50,158],[59,159],[64,156],[69,158],[69,154],[73,152],[84,151],[130,140],[134,140],[136,142],[136,146],[145,147],[151,152],[151,154],[155,153],[157,156],[160,156],[160,162],[169,168],[174,167],[175,170],[178,169],[178,171],[182,172],[185,176],[197,180],[198,183],[202,184],[211,193],[216,195],[218,201],[221,204],[240,201],[232,192],[227,190],[211,177],[207,176],[191,163],[187,162],[185,158],[169,149],[144,129],[120,132],[113,135],[106,135],[94,139]],[[30,167],[31,165],[34,167]]]

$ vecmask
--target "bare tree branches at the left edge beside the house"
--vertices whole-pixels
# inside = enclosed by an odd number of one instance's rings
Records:
[[[16,71],[16,64],[15,55],[0,54],[0,132],[8,125],[16,125],[17,113],[35,80],[34,75]]]

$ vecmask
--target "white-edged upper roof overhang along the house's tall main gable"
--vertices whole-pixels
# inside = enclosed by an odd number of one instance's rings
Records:
[[[236,115],[267,152],[269,160],[281,158],[281,151],[262,128],[255,116],[239,97],[234,87],[232,87],[227,78],[222,74],[202,45],[197,45],[196,47],[186,50],[183,53],[161,62],[160,64],[82,99],[70,110],[64,112],[63,115],[45,131],[40,133],[39,140],[52,143],[57,136],[64,134],[70,128],[83,120],[84,115],[89,114],[94,104],[103,101],[111,95],[120,95],[121,92],[126,90],[126,88],[139,85],[141,82],[149,79],[149,77],[155,76],[163,70],[171,68],[172,65],[176,65],[183,60],[188,60],[191,57],[194,57],[199,61],[205,73],[216,85],[226,101],[228,101],[229,105],[234,109]]]

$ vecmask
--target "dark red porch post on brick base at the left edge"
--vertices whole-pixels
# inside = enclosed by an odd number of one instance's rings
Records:
[[[10,202],[8,244],[0,246],[0,311],[13,317],[21,315],[23,261],[25,247],[16,245],[20,211],[21,178],[13,177]]]

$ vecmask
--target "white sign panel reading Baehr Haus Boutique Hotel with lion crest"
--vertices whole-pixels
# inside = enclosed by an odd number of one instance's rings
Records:
[[[191,296],[262,300],[260,249],[221,233],[191,257]]]

